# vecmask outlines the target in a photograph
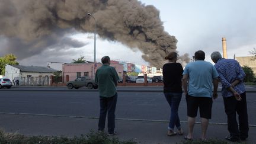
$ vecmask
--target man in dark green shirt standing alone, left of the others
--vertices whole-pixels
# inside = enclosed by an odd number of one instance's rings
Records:
[[[108,136],[116,135],[115,129],[115,111],[117,103],[117,81],[119,76],[116,69],[110,66],[110,57],[101,58],[103,66],[97,69],[95,82],[98,84],[100,92],[100,119],[98,122],[98,131],[103,132],[105,128],[105,118],[108,114]]]

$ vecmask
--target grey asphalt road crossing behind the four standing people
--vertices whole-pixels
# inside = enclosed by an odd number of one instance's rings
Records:
[[[117,100],[117,119],[169,119],[169,105],[162,92],[120,91]],[[249,124],[256,125],[256,97],[248,92]],[[187,121],[185,98],[181,100],[181,121]],[[98,117],[97,91],[0,91],[0,113],[46,114],[57,116]],[[198,116],[199,117],[199,116]],[[199,121],[199,119],[197,119]],[[214,100],[210,123],[226,123],[223,100]]]

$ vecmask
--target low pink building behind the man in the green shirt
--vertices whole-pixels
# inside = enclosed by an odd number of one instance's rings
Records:
[[[80,76],[87,76],[91,79],[94,79],[95,72],[98,68],[102,66],[102,63],[86,62],[86,63],[65,63],[62,65],[62,75],[63,81],[73,81]],[[119,63],[113,63],[110,66],[113,66],[119,77],[123,76],[123,65]],[[68,76],[69,79],[66,79]]]

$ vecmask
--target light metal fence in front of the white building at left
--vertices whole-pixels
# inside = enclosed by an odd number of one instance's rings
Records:
[[[49,76],[21,77],[20,85],[26,86],[50,86]]]

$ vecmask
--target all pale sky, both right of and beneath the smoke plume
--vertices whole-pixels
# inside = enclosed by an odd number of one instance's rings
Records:
[[[154,5],[160,11],[165,31],[178,40],[180,55],[190,57],[197,50],[206,52],[206,60],[211,62],[210,53],[222,53],[222,37],[226,37],[228,57],[249,56],[249,50],[256,48],[256,1],[253,0],[142,0],[145,5]],[[39,55],[19,59],[20,65],[47,66],[47,62],[72,62],[72,59],[85,56],[94,60],[94,34],[70,34],[73,41],[84,43],[83,47],[53,49],[47,47]],[[65,40],[64,40],[65,41]],[[5,43],[1,39],[0,44]],[[71,45],[72,46],[72,45]],[[113,60],[148,65],[142,53],[130,49],[119,42],[103,40],[97,36],[97,61],[108,55]],[[0,54],[3,52],[0,52]]]

